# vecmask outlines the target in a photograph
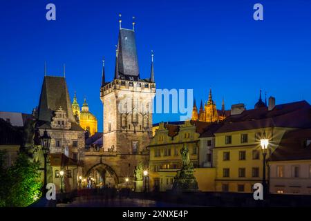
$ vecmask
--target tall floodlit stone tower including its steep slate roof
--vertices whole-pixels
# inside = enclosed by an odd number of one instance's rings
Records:
[[[120,27],[113,81],[106,82],[104,70],[102,73],[104,154],[100,162],[109,166],[115,180],[122,184],[125,177],[135,179],[133,173],[138,164],[146,168],[148,165],[147,146],[152,137],[152,106],[156,95],[153,55],[150,78],[140,79],[135,32]]]

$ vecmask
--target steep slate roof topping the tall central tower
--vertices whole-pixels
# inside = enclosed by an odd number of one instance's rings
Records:
[[[133,30],[120,29],[117,50],[117,67],[120,77],[140,79],[135,32]]]

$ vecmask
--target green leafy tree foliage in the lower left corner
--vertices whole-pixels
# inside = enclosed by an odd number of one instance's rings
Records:
[[[0,206],[28,206],[41,196],[39,163],[19,153],[15,164],[4,168],[5,153],[0,152]]]

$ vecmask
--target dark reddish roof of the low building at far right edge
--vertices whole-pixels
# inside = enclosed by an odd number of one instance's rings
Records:
[[[286,132],[270,160],[311,160],[311,128]]]

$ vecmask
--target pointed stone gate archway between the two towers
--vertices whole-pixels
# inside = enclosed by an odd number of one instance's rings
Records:
[[[106,184],[107,186],[114,187],[119,184],[119,178],[117,177],[117,173],[111,168],[111,166],[100,162],[99,164],[95,164],[91,166],[88,171],[86,171],[85,177],[100,177],[100,182],[102,185]],[[94,177],[95,176],[95,177]],[[100,183],[96,179],[96,184]]]

